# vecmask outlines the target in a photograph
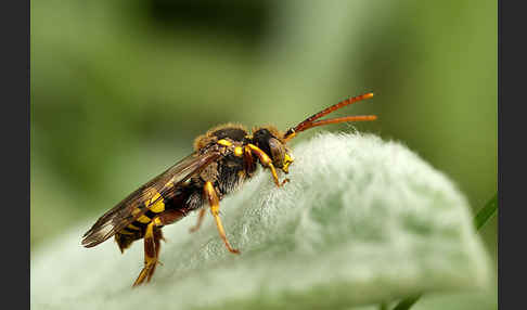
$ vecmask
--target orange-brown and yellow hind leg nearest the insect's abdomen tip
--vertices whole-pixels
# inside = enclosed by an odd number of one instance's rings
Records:
[[[132,286],[138,286],[144,282],[150,282],[150,279],[155,272],[157,266],[159,251],[160,251],[160,241],[163,240],[163,234],[160,228],[163,225],[172,223],[185,214],[181,210],[166,210],[163,214],[154,217],[152,221],[146,227],[144,232],[144,267],[139,273],[138,279],[133,282]]]

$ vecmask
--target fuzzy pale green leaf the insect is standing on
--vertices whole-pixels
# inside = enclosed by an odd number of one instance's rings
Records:
[[[221,201],[240,256],[226,250],[210,218],[189,234],[190,216],[164,228],[163,266],[131,289],[142,243],[124,256],[113,242],[82,248],[90,221],[33,251],[31,307],[338,309],[487,287],[466,199],[407,147],[326,133],[294,156],[284,188],[266,170]]]

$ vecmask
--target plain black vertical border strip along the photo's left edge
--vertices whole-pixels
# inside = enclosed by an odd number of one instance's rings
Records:
[[[30,308],[30,93],[29,0],[1,5],[2,38],[2,297],[16,309]],[[5,171],[5,170],[4,170]]]

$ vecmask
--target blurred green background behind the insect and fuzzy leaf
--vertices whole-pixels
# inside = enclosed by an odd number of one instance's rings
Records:
[[[285,129],[368,91],[337,116],[376,114],[354,127],[402,141],[474,211],[497,191],[496,1],[35,0],[30,14],[31,248],[80,240],[209,127]],[[496,263],[497,220],[481,234]]]

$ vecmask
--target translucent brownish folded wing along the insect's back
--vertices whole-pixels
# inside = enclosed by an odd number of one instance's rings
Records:
[[[163,199],[163,197],[169,195],[179,184],[200,173],[219,157],[221,157],[219,152],[209,151],[201,155],[193,153],[181,159],[99,218],[93,227],[83,234],[81,244],[85,247],[93,247],[106,241],[146,212],[149,207],[153,206],[157,199]],[[152,199],[157,193],[160,196]],[[150,203],[145,204],[146,202]]]

